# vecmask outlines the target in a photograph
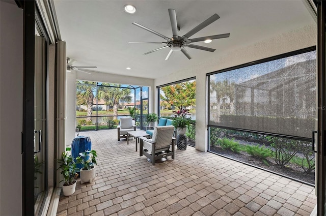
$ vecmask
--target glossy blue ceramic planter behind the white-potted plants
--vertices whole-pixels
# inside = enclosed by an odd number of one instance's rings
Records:
[[[73,139],[71,143],[71,156],[76,162],[76,158],[79,157],[80,152],[85,152],[86,150],[92,150],[92,141],[89,136],[77,136]],[[89,157],[89,156],[87,156]],[[76,164],[79,169],[83,168],[83,164]]]

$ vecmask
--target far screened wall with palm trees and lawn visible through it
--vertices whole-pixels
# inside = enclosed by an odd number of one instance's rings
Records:
[[[132,116],[142,127],[148,113],[148,86],[116,83],[76,82],[76,128],[79,131],[113,129],[119,118]]]

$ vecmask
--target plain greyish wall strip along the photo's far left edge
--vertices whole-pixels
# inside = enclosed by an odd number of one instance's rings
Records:
[[[14,2],[0,1],[0,44],[0,215],[21,215],[23,11]]]

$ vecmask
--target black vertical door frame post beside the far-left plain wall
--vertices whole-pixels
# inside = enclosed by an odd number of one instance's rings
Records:
[[[35,0],[16,1],[23,9],[22,215],[34,215]],[[33,173],[33,174],[32,174]]]

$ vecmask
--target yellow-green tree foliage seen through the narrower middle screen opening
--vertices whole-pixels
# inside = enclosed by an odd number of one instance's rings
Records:
[[[196,104],[196,81],[181,82],[173,85],[161,87],[164,94],[160,94],[160,99],[176,108],[186,108]]]

